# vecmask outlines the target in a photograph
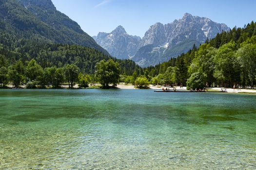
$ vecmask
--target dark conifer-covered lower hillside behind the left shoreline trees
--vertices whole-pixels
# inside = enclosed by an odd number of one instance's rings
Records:
[[[17,39],[12,34],[0,33],[0,66],[8,67],[18,60],[26,65],[31,59],[35,59],[42,68],[75,64],[81,72],[87,74],[93,74],[96,64],[103,59],[118,61],[122,74],[129,75],[140,69],[131,60],[118,60],[93,48]]]

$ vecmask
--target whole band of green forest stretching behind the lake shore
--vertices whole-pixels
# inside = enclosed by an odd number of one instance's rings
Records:
[[[111,62],[106,62],[109,60]],[[104,66],[111,63],[115,67]],[[98,64],[101,62],[101,66]],[[116,63],[116,64],[115,64]],[[100,76],[109,73],[106,77]],[[105,70],[104,70],[105,69]],[[107,70],[108,69],[108,70]],[[105,71],[105,72],[104,72]],[[117,74],[118,73],[118,74]],[[115,79],[111,80],[111,75]],[[103,83],[102,79],[111,81]],[[177,58],[155,67],[140,68],[131,60],[118,60],[94,48],[79,45],[54,44],[36,37],[18,38],[0,32],[0,86],[13,83],[27,88],[63,82],[73,87],[88,83],[104,85],[118,82],[137,85],[187,85],[187,88],[256,86],[256,23],[217,34]]]

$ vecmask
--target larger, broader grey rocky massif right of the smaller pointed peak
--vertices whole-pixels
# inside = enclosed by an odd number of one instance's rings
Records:
[[[155,66],[187,52],[194,44],[198,46],[207,38],[214,38],[217,33],[229,29],[227,25],[216,23],[209,18],[185,13],[182,19],[176,19],[172,23],[152,25],[141,42],[141,48],[151,44],[152,50],[139,49],[132,59],[141,67]]]

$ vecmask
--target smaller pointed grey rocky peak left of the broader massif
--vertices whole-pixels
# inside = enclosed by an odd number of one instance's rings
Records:
[[[111,55],[126,59],[134,56],[139,48],[141,38],[126,33],[122,26],[118,26],[111,33],[98,33],[93,36],[98,45],[106,49]]]

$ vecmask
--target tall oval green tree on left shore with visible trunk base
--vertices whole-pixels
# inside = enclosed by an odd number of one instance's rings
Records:
[[[79,68],[74,64],[67,64],[64,66],[64,77],[68,81],[68,86],[73,88],[73,85],[78,80]]]

